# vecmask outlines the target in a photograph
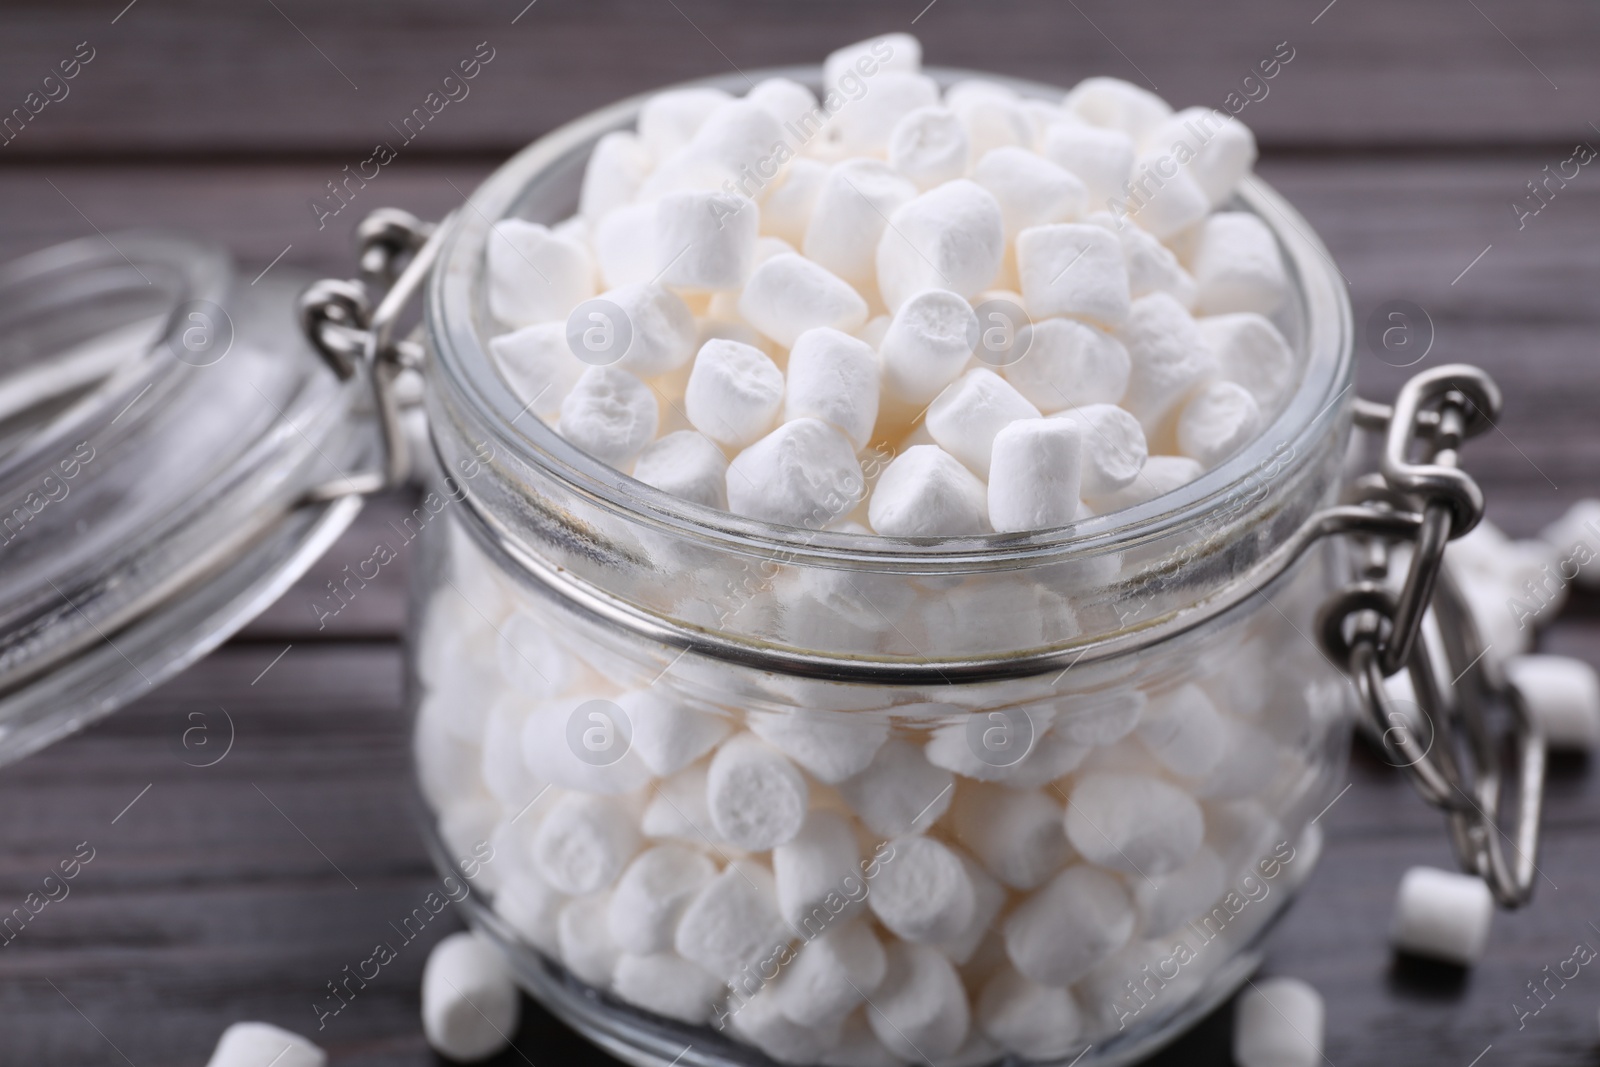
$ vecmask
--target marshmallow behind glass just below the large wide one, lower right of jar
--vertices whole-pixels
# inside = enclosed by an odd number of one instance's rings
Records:
[[[1035,889],[1005,921],[1006,955],[1040,985],[1070,985],[1133,934],[1133,902],[1122,883],[1085,864]]]

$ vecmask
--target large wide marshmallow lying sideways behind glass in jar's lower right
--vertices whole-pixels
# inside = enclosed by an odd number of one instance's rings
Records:
[[[1083,774],[1064,825],[1091,864],[1149,878],[1189,862],[1205,833],[1189,793],[1144,774]]]

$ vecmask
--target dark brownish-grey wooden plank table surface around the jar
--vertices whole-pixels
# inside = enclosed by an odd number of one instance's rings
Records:
[[[510,150],[594,106],[816,61],[874,32],[912,29],[933,62],[1056,83],[1112,74],[1213,106],[1288,42],[1293,61],[1242,118],[1261,139],[1261,174],[1338,259],[1357,323],[1384,301],[1414,301],[1437,331],[1429,362],[1499,378],[1501,432],[1469,453],[1498,523],[1530,534],[1600,494],[1600,173],[1552,182],[1538,214],[1533,200],[1512,208],[1547,165],[1600,142],[1600,22],[1578,0],[123,3],[19,0],[0,13],[3,109],[93,50],[69,96],[0,147],[0,256],[155,226],[224,242],[250,274],[280,256],[347,274],[352,227],[373,206],[437,218]],[[390,123],[480,42],[493,59],[470,94],[318,229],[309,202],[325,182],[394,141]],[[1403,371],[1363,349],[1360,374],[1382,397]],[[235,1019],[314,1033],[339,1067],[435,1062],[418,1025],[422,944],[322,1033],[312,1014],[325,982],[365,958],[432,877],[398,705],[405,563],[323,632],[306,606],[400,506],[374,501],[299,589],[176,681],[0,771],[0,904],[80,841],[94,849],[70,896],[0,950],[0,1064],[186,1067]],[[1600,600],[1579,597],[1542,643],[1600,661]],[[218,709],[232,717],[232,752],[186,766],[178,737],[194,713],[219,723]],[[1400,872],[1450,856],[1438,816],[1397,774],[1358,755],[1350,781],[1323,819],[1322,870],[1267,963],[1326,997],[1328,1062],[1594,1062],[1600,977],[1581,973],[1522,1029],[1512,1005],[1576,942],[1600,944],[1600,776],[1554,768],[1539,894],[1496,918],[1470,974],[1390,955]],[[1229,1019],[1218,1011],[1157,1062],[1229,1062]],[[606,1061],[530,1005],[517,1051],[494,1062]]]

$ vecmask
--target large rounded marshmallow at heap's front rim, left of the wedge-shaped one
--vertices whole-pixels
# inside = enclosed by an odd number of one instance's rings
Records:
[[[726,485],[734,515],[808,530],[848,515],[864,490],[850,438],[821,419],[784,422],[746,448]]]

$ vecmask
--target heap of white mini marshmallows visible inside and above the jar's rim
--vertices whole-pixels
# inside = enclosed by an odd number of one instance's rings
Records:
[[[590,456],[707,507],[883,536],[1013,533],[1184,485],[1293,389],[1256,158],[1115,78],[941,94],[904,34],[819,102],[651,98],[579,213],[486,245],[490,349]]]

